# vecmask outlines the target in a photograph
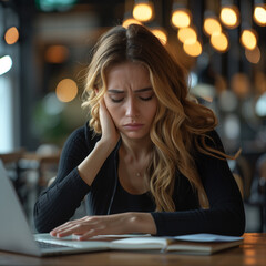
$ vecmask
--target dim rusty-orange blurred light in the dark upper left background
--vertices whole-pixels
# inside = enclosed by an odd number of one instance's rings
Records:
[[[63,63],[69,57],[69,49],[64,45],[51,45],[47,49],[44,57],[49,63]]]

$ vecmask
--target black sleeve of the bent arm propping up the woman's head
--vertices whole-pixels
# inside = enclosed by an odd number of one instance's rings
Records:
[[[62,149],[57,177],[34,205],[34,225],[40,233],[50,232],[69,221],[90,191],[76,168],[89,154],[85,132],[80,127],[69,136]]]

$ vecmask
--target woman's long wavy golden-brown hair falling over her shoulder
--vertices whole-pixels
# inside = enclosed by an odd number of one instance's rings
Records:
[[[193,151],[197,149],[222,160],[231,156],[206,145],[206,133],[217,125],[216,116],[212,110],[190,99],[184,69],[145,27],[114,27],[94,47],[82,103],[90,109],[90,126],[101,133],[99,103],[106,92],[106,69],[129,61],[147,68],[158,102],[150,131],[154,149],[145,173],[156,211],[175,211],[172,197],[176,171],[195,188],[201,206],[208,207]]]

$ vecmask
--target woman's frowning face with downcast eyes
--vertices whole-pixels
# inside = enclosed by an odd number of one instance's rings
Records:
[[[147,69],[132,62],[115,64],[106,72],[106,89],[105,105],[121,134],[147,137],[157,109]]]

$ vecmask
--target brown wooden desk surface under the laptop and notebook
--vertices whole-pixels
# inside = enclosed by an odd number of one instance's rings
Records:
[[[143,254],[129,252],[99,252],[80,255],[37,258],[0,252],[0,265],[41,266],[265,266],[266,233],[245,234],[241,247],[212,256],[185,256],[175,254]]]

